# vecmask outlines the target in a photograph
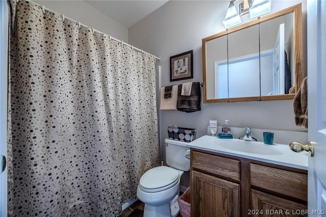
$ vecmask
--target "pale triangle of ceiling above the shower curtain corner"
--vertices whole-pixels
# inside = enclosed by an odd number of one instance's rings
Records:
[[[126,28],[129,28],[168,1],[169,0],[86,0],[85,2]]]

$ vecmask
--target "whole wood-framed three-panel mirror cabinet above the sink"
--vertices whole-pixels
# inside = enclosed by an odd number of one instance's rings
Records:
[[[303,79],[301,10],[204,38],[204,103],[293,99]]]

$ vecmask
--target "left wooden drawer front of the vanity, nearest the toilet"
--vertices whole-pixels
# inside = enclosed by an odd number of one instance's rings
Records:
[[[218,176],[240,181],[240,161],[192,151],[192,167]]]

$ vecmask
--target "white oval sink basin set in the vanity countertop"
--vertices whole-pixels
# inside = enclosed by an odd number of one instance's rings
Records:
[[[258,155],[282,155],[283,153],[277,150],[276,145],[266,145],[262,142],[244,141],[238,139],[225,139],[214,141],[214,143],[222,148],[233,151],[245,152]]]

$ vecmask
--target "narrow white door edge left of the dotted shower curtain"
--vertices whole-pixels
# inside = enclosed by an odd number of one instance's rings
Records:
[[[7,216],[8,1],[0,1],[0,216]]]

